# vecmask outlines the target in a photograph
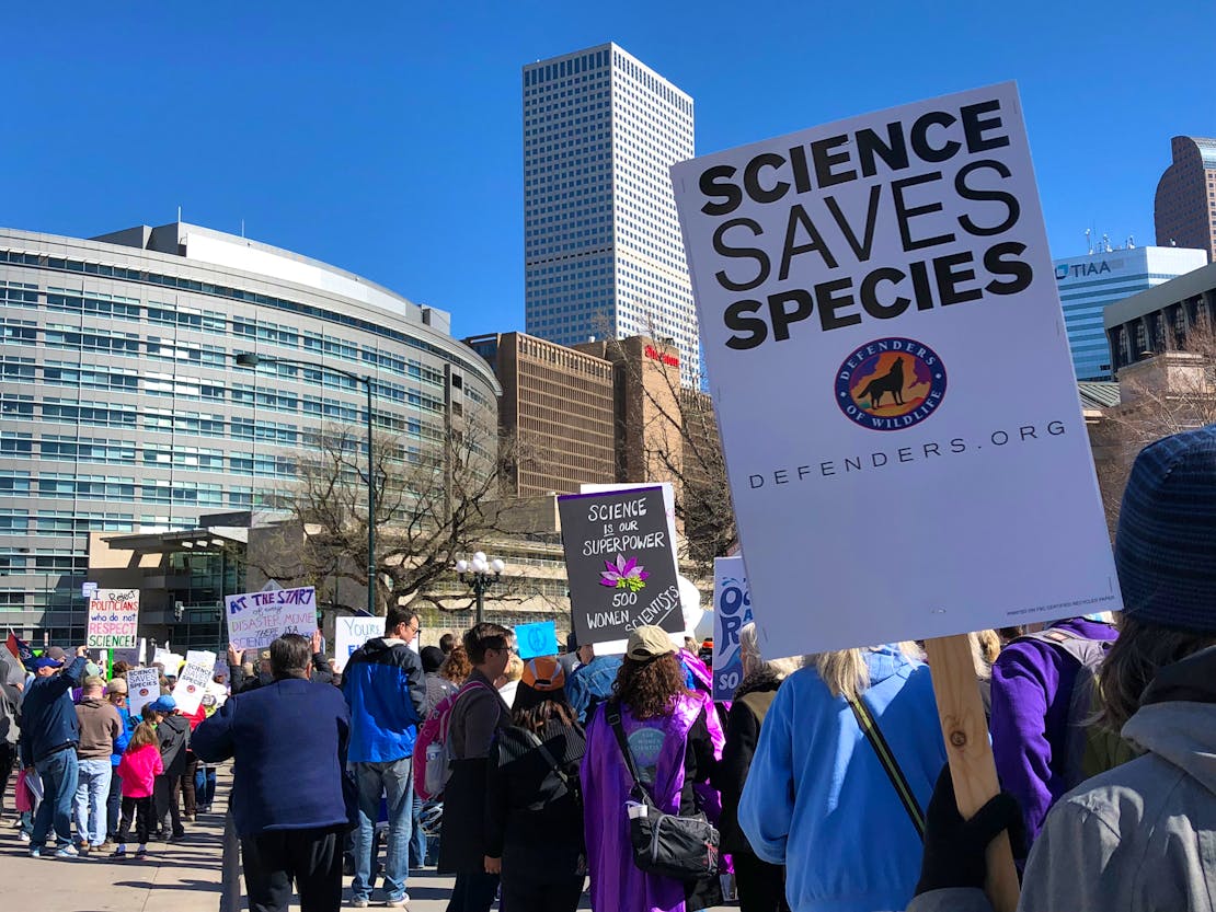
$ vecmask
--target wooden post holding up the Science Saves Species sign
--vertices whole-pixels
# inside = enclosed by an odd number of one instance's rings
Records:
[[[950,777],[955,783],[958,811],[970,818],[1001,787],[989,743],[984,702],[975,686],[972,646],[966,635],[927,640],[925,652],[933,671],[941,736],[946,741]],[[984,886],[996,912],[1015,912],[1018,871],[1013,865],[1009,837],[1001,833],[987,849],[987,883]]]

